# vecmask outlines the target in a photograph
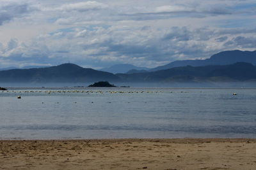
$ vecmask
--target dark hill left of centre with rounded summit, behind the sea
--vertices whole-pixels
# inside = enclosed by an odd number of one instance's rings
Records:
[[[77,66],[76,64],[61,64],[60,66],[44,68],[0,71],[0,82],[82,83],[93,81],[119,81],[119,78],[112,73],[87,69]]]

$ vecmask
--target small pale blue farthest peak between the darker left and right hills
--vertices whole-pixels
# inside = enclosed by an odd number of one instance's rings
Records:
[[[111,67],[106,67],[103,69],[100,69],[100,71],[106,71],[109,73],[127,73],[127,71],[130,71],[131,69],[136,69],[136,70],[141,70],[141,69],[145,69],[148,70],[147,67],[136,67],[133,66],[132,64],[116,64],[114,66]]]

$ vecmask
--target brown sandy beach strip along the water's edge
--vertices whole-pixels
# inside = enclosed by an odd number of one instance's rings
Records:
[[[256,139],[0,141],[0,169],[256,169]]]

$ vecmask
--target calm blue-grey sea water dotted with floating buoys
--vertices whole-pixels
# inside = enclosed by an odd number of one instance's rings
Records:
[[[0,139],[255,137],[256,89],[0,91]]]

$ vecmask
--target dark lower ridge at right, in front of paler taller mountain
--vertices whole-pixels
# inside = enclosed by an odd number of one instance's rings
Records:
[[[225,66],[185,66],[148,73],[116,75],[127,82],[250,81],[256,80],[256,67],[250,63],[237,62]]]

